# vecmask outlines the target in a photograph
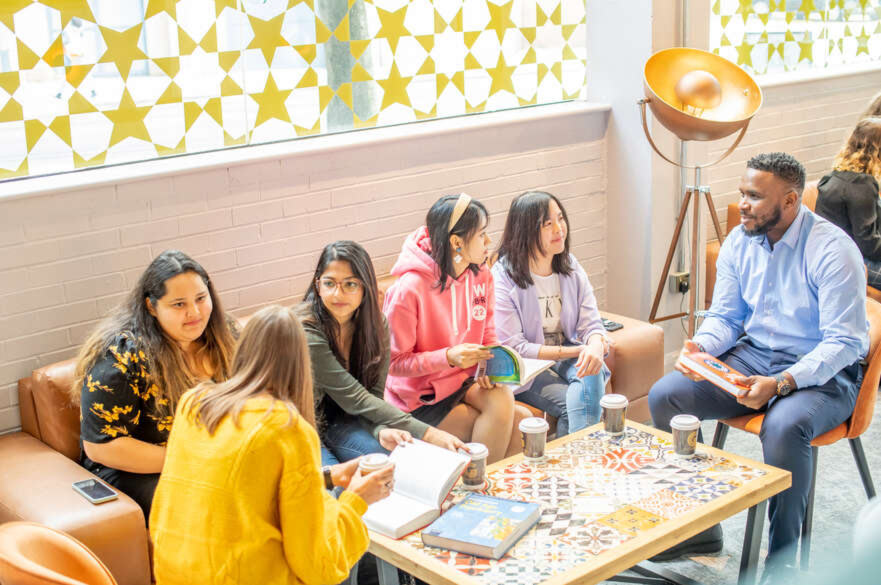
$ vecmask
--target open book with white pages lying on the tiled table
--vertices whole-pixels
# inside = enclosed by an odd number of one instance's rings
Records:
[[[395,487],[364,513],[367,528],[401,538],[433,522],[470,457],[414,440],[395,448]]]

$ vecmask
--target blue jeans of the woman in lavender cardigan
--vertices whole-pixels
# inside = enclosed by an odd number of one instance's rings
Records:
[[[515,396],[520,402],[555,417],[558,437],[600,420],[600,399],[605,391],[606,377],[600,372],[579,378],[576,361],[576,358],[558,361],[536,376],[529,390]]]

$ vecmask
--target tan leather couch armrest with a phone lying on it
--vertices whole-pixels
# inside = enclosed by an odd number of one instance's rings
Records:
[[[0,436],[0,461],[0,523],[28,520],[67,532],[120,585],[150,585],[147,529],[134,500],[120,493],[90,504],[71,484],[94,475],[27,433]]]

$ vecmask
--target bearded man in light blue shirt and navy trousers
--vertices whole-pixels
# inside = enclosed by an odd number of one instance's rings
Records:
[[[811,440],[850,416],[869,348],[862,257],[847,234],[801,205],[804,184],[804,168],[789,154],[760,154],[747,163],[740,225],[719,252],[712,306],[683,348],[744,373],[749,392],[736,398],[679,362],[649,392],[652,419],[667,431],[680,413],[701,420],[765,413],[765,462],[792,473],[792,487],[768,506],[766,578],[794,571],[811,488]],[[655,560],[721,548],[715,526]]]

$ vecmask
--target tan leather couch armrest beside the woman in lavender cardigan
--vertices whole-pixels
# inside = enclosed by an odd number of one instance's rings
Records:
[[[637,422],[651,420],[648,393],[664,375],[664,330],[645,321],[601,312],[603,317],[624,325],[609,337],[614,343],[610,368],[612,391],[630,400],[627,417]]]

